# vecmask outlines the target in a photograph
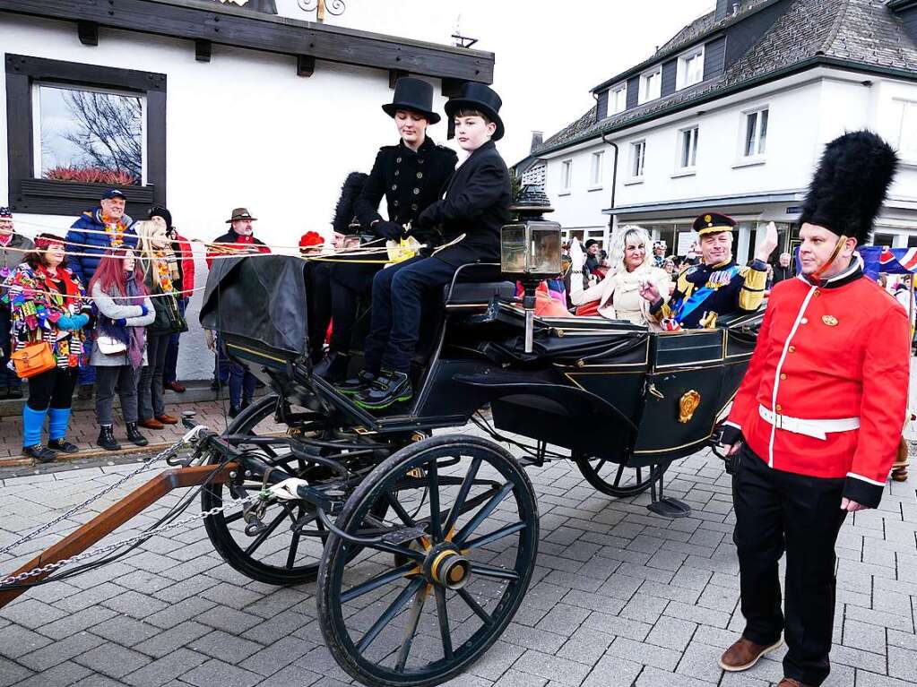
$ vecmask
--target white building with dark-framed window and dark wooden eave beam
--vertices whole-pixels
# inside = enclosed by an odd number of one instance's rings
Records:
[[[306,230],[328,234],[348,172],[368,172],[395,138],[380,106],[397,77],[428,78],[441,110],[461,82],[492,82],[494,62],[488,52],[212,0],[0,0],[0,52],[0,206],[12,208],[21,233],[63,233],[117,185],[61,180],[94,166],[88,149],[107,154],[73,142],[87,134],[74,114],[83,103],[107,106],[94,119],[130,130],[115,136],[136,177],[121,180],[128,214],[164,204],[183,235],[212,240],[245,206],[259,218],[256,235],[281,246]],[[446,125],[430,134],[445,142]],[[197,267],[203,287],[204,261]],[[182,378],[212,369],[196,327],[200,300],[182,338]]]

